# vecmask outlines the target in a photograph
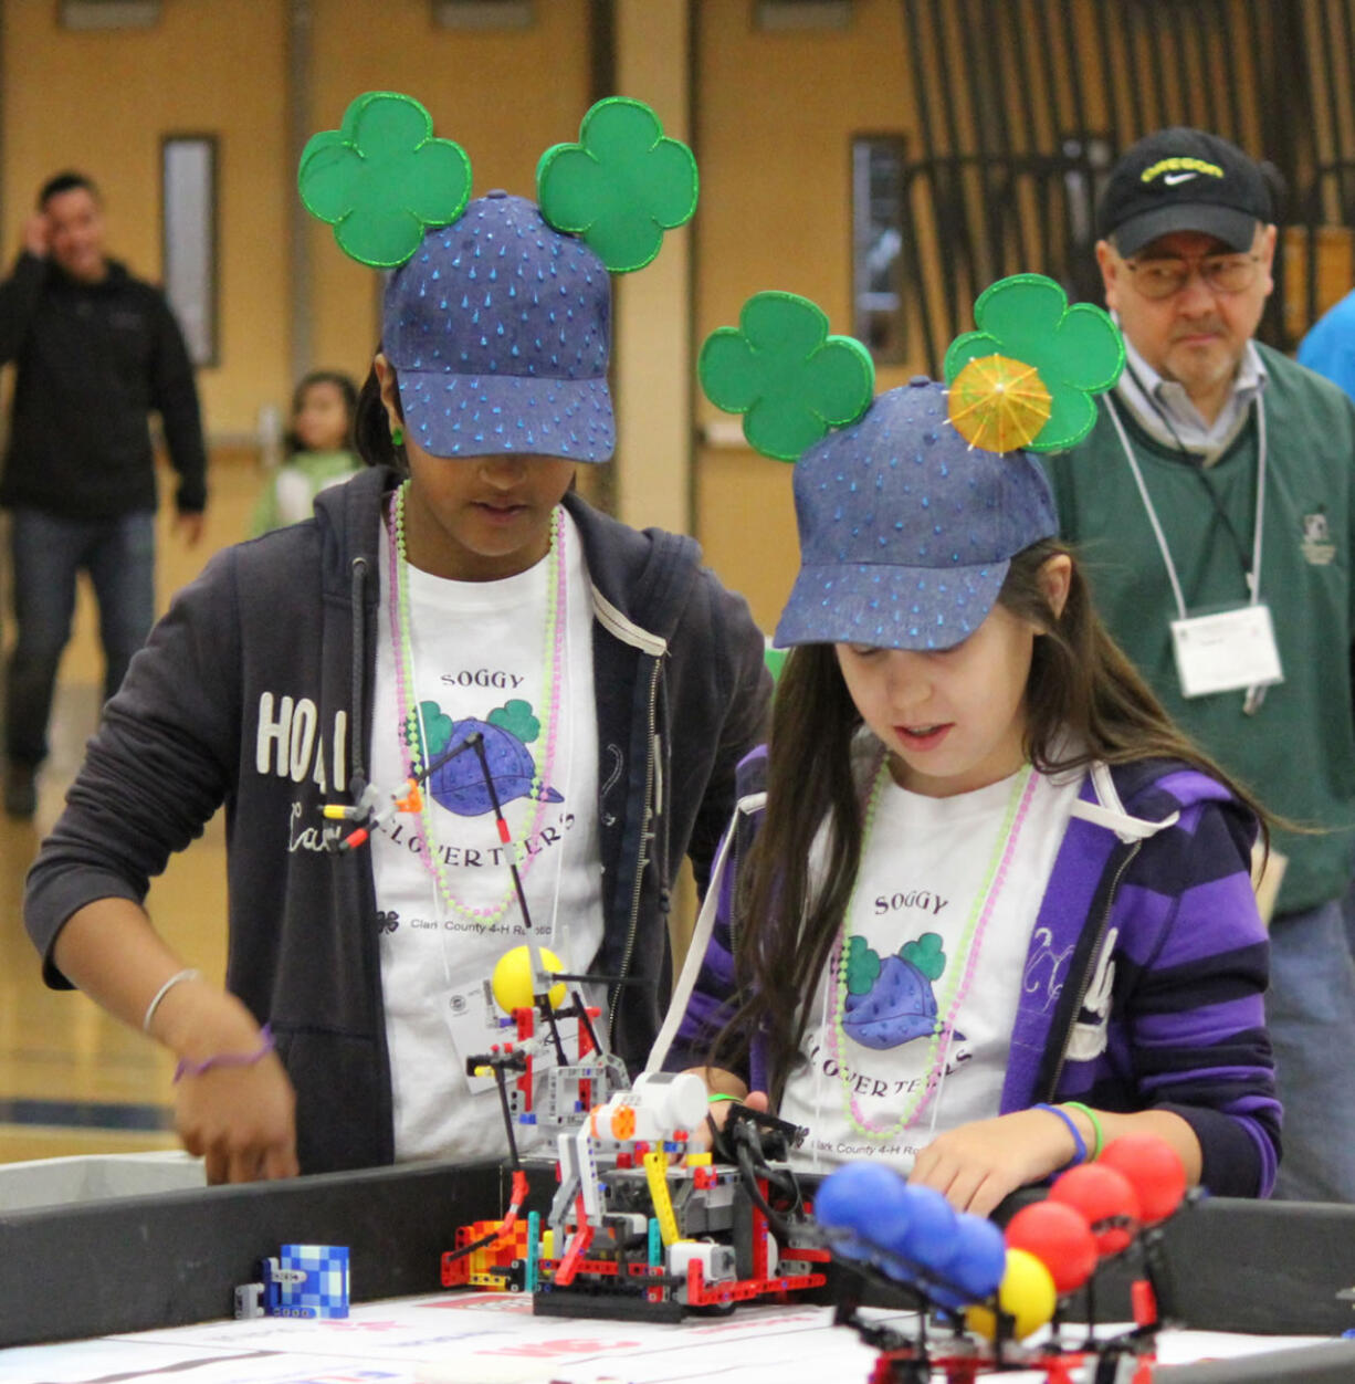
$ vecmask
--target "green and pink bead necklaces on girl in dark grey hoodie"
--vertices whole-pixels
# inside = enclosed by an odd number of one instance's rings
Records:
[[[417,700],[414,677],[414,637],[412,621],[410,620],[410,563],[406,556],[404,537],[404,497],[410,487],[406,480],[396,491],[394,504],[390,507],[390,642],[394,652],[396,671],[396,716],[397,734],[401,746],[401,758],[406,763],[407,774],[414,778],[424,767],[424,745],[426,732],[424,728],[422,710]],[[531,787],[527,796],[536,801],[523,841],[530,840],[541,829],[545,818],[547,803],[541,796],[541,786],[551,778],[555,767],[555,749],[559,739],[561,720],[561,688],[565,668],[565,626],[567,620],[567,573],[565,562],[565,515],[559,505],[551,516],[551,569],[545,580],[545,635],[541,655],[543,691],[541,704],[545,706],[544,724],[541,727],[545,746],[541,758],[531,756]],[[472,922],[500,922],[516,901],[516,889],[509,882],[504,890],[504,897],[489,908],[478,908],[462,902],[451,891],[447,871],[437,850],[437,835],[433,828],[432,811],[432,782],[428,783],[422,794],[422,822],[424,840],[426,848],[421,853],[424,868],[433,876],[437,893],[443,902],[454,913]],[[536,855],[523,850],[523,841],[516,844],[505,843],[518,855],[519,875],[526,876],[536,861]],[[537,853],[540,854],[540,853]]]

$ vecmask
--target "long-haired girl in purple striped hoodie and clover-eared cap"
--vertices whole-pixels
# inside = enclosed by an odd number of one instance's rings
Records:
[[[808,1167],[886,1158],[977,1214],[1122,1133],[1232,1196],[1279,1151],[1258,810],[1106,635],[1020,450],[1075,440],[1122,364],[1109,318],[1066,306],[994,285],[949,390],[882,394],[797,462],[771,742],[651,1057],[807,1127]],[[703,352],[724,407],[757,394],[753,321],[742,360]],[[840,376],[854,345],[818,350]]]

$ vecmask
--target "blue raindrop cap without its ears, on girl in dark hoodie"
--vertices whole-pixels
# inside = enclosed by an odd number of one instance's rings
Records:
[[[382,346],[410,436],[436,457],[606,461],[610,320],[610,275],[588,245],[526,198],[478,198],[386,285]]]

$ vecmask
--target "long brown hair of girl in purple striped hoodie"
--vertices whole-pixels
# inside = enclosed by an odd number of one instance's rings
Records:
[[[1056,613],[1041,569],[1059,555],[1073,567]],[[1179,760],[1222,783],[1265,832],[1259,804],[1175,727],[1110,638],[1066,544],[1045,538],[1019,552],[998,601],[1041,631],[1024,703],[1024,750],[1038,771],[1096,760]],[[747,998],[710,1055],[711,1066],[736,1067],[753,1035],[761,1035],[774,1104],[799,1053],[808,996],[828,965],[861,864],[862,803],[851,756],[861,724],[833,646],[792,649],[772,709],[767,811],[735,897],[735,960]],[[810,858],[821,828],[824,864],[814,880]]]

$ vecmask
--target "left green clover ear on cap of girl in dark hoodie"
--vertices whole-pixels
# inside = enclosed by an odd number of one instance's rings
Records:
[[[448,226],[465,210],[471,161],[460,144],[435,138],[433,118],[414,97],[367,91],[338,130],[311,136],[296,185],[346,255],[394,268],[428,227]]]

